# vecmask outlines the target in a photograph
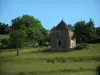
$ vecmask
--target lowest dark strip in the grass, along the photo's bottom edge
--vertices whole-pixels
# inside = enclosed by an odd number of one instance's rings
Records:
[[[84,71],[92,71],[95,69],[92,68],[80,68],[80,69],[58,69],[58,70],[49,70],[49,71],[32,71],[32,72],[19,72],[13,73],[10,75],[41,75],[41,74],[60,74],[60,73],[76,73],[76,72],[84,72]]]

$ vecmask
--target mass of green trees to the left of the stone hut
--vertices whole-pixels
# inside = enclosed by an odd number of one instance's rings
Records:
[[[49,31],[41,22],[30,15],[23,15],[11,20],[12,25],[0,24],[0,34],[9,38],[1,39],[2,48],[22,48],[49,45]]]

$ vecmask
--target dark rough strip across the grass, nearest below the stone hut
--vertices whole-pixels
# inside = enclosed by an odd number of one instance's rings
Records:
[[[69,57],[69,58],[64,58],[64,57],[56,57],[56,58],[45,58],[41,59],[44,60],[45,62],[48,63],[65,63],[65,62],[99,62],[100,61],[100,56],[97,57]]]

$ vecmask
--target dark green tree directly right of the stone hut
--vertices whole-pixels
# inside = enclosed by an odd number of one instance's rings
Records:
[[[85,21],[76,22],[74,37],[78,43],[93,43],[96,37],[93,20],[90,19],[88,23],[85,23]]]

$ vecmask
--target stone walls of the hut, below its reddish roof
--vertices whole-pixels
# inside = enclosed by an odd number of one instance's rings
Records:
[[[51,50],[70,50],[76,47],[76,40],[72,40],[71,30],[51,31]]]

